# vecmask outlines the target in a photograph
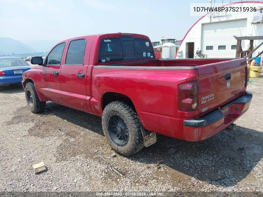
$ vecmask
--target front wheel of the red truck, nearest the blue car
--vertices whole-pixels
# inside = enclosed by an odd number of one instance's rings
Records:
[[[39,113],[45,110],[46,102],[41,102],[35,90],[35,85],[32,82],[26,83],[25,87],[26,101],[30,110],[33,113]]]

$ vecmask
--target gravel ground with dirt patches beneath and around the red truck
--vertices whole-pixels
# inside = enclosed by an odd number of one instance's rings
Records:
[[[157,135],[157,143],[131,157],[111,157],[100,117],[52,102],[44,113],[33,114],[21,85],[6,87],[0,92],[0,191],[250,191],[260,196],[263,78],[252,80],[247,88],[252,104],[235,131],[198,143]],[[48,170],[35,175],[31,165],[38,162]]]

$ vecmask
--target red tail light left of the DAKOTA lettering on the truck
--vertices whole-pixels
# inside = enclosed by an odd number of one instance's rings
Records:
[[[197,110],[198,103],[199,103],[199,88],[198,88],[197,80],[179,86],[180,111]]]

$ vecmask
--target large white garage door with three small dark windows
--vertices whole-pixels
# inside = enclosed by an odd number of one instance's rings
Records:
[[[204,24],[202,53],[208,58],[234,58],[237,40],[233,35],[245,36],[246,33],[247,19]],[[244,40],[242,40],[242,49],[246,49]]]

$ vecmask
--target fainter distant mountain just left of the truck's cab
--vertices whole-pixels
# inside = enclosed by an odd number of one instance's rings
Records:
[[[49,52],[59,40],[22,40],[22,42],[39,52]]]

